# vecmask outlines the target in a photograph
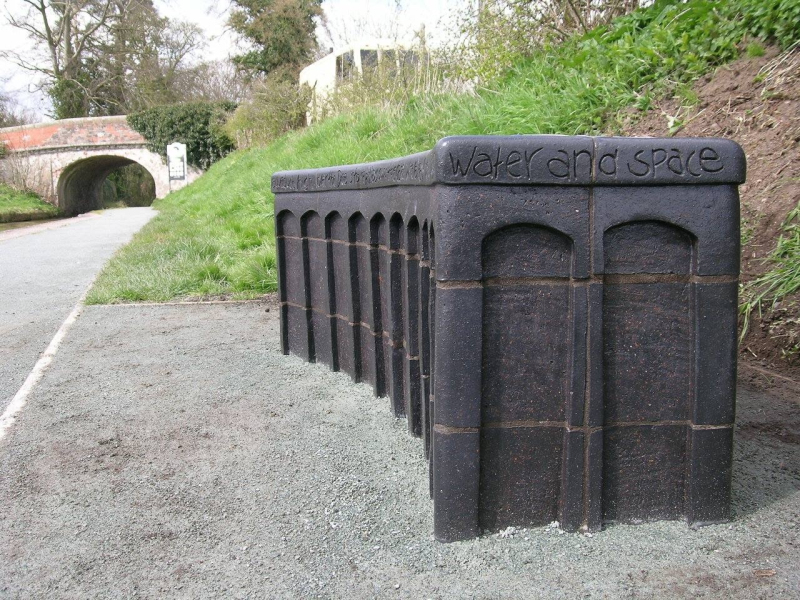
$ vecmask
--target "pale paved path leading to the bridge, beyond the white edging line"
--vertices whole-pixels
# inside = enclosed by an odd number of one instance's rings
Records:
[[[115,209],[0,236],[0,413],[106,261],[155,214]]]

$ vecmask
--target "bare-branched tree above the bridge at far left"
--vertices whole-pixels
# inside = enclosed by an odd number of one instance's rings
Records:
[[[9,23],[38,56],[2,56],[42,76],[56,118],[124,114],[184,99],[199,28],[161,17],[152,0],[22,0]]]

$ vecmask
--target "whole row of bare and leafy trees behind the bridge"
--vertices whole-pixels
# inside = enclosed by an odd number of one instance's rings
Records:
[[[254,81],[294,79],[316,49],[321,0],[233,0],[229,25],[248,44],[232,61],[198,62],[193,23],[159,14],[153,0],[17,0],[8,22],[33,54],[5,58],[38,75],[57,119],[128,114],[187,101],[239,102]],[[0,101],[0,106],[8,106]]]

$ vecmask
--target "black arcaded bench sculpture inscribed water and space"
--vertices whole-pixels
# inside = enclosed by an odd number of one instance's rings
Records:
[[[729,515],[741,148],[453,137],[272,179],[285,353],[421,435],[437,539]]]

